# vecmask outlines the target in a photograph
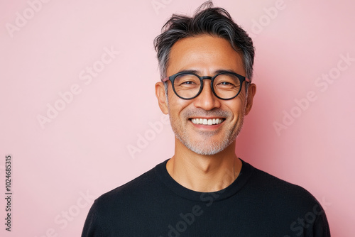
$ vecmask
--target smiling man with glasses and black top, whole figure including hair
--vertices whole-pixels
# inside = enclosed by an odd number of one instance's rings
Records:
[[[82,236],[330,236],[312,194],[235,153],[256,85],[253,43],[229,13],[207,2],[174,15],[155,50],[175,154],[99,197]]]

